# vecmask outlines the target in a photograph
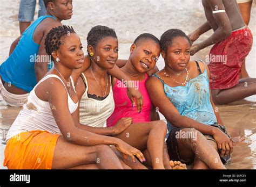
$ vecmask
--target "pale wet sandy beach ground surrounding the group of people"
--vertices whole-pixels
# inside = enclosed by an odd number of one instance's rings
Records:
[[[86,36],[95,25],[106,25],[116,30],[119,40],[119,59],[127,59],[130,45],[141,33],[149,32],[157,37],[169,28],[179,28],[187,34],[204,23],[205,16],[198,0],[143,0],[143,1],[73,1],[73,17],[63,21],[72,25],[86,48]],[[2,0],[0,6],[0,64],[8,57],[12,41],[19,37],[18,0]],[[173,11],[176,10],[176,11]],[[35,18],[37,18],[37,13]],[[246,69],[256,77],[256,4],[253,3],[249,28],[253,33],[253,48],[246,58]],[[198,41],[206,39],[208,31]],[[206,60],[211,47],[191,57],[191,60]],[[163,58],[157,62],[164,67]],[[0,169],[3,167],[5,134],[21,108],[7,106],[0,96]],[[218,110],[224,125],[232,137],[244,137],[244,143],[236,145],[228,169],[256,169],[256,95],[228,105],[219,105]],[[164,119],[161,116],[161,119]]]

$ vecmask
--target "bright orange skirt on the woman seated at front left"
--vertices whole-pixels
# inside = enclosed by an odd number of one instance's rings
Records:
[[[15,135],[6,144],[4,166],[8,169],[51,169],[59,136],[47,131]]]

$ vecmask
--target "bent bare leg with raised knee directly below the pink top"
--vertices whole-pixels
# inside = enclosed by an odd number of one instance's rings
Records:
[[[142,152],[147,149],[153,169],[165,169],[164,140],[166,133],[167,125],[164,121],[159,120],[131,124],[124,132],[115,136]]]

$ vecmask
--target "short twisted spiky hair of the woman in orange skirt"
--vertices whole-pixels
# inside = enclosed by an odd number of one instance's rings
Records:
[[[70,33],[76,33],[72,26],[62,25],[52,28],[46,35],[44,42],[46,53],[51,55],[53,51],[57,51],[59,46],[63,44],[63,39]]]

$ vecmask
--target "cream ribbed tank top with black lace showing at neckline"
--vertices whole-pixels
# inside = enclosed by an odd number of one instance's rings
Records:
[[[86,89],[79,104],[80,124],[89,125],[91,127],[104,127],[106,119],[109,118],[114,111],[112,83],[110,81],[109,95],[103,100],[96,100],[87,96],[88,83],[85,75],[83,73],[82,75]]]

